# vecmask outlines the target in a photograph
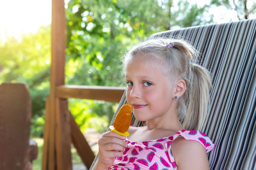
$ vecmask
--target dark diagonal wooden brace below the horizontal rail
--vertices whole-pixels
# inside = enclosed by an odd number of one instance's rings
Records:
[[[74,144],[77,153],[80,155],[87,169],[90,169],[92,162],[95,158],[90,145],[88,145],[86,138],[84,138],[83,133],[80,131],[79,126],[76,124],[76,120],[70,113],[70,125],[71,125],[71,136],[72,143]]]

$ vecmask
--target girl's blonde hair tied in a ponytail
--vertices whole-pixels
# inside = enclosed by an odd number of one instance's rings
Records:
[[[169,43],[174,46],[168,48]],[[195,48],[181,39],[149,39],[125,55],[124,66],[138,56],[164,61],[168,70],[163,73],[186,81],[186,91],[177,101],[179,120],[185,129],[201,130],[207,115],[211,76],[207,69],[195,63],[198,56]]]

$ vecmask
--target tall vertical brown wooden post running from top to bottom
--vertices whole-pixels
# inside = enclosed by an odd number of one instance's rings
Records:
[[[55,169],[72,169],[70,124],[67,123],[67,101],[60,101],[56,96],[56,87],[65,85],[65,49],[66,49],[66,15],[64,0],[52,0],[51,25],[51,89],[50,105],[51,131],[54,134],[54,151],[56,152]],[[64,108],[64,109],[62,109]],[[69,118],[68,118],[69,121]],[[63,129],[60,129],[63,128]],[[67,142],[61,142],[64,139]],[[69,142],[69,143],[68,143]],[[52,145],[52,143],[51,143]],[[51,150],[51,148],[50,148]],[[65,156],[63,156],[65,153]]]

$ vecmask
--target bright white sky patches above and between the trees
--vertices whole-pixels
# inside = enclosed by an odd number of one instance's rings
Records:
[[[65,2],[67,3],[68,0]],[[210,1],[193,0],[191,3],[209,4]],[[159,0],[161,3],[161,0]],[[236,11],[224,6],[212,7],[205,17],[214,15],[214,22],[223,23],[238,20]],[[256,15],[251,18],[256,18]],[[51,0],[8,0],[0,2],[0,40],[36,32],[42,25],[51,24]]]

